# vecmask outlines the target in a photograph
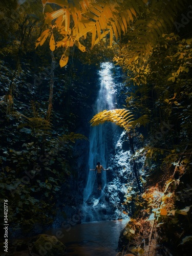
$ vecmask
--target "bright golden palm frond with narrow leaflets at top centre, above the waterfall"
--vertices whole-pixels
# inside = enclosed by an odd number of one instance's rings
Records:
[[[94,26],[91,32],[92,47],[94,47],[106,34],[110,34],[110,46],[113,38],[116,40],[125,34],[127,31],[127,24],[133,22],[134,18],[140,13],[139,8],[143,10],[144,1],[102,1],[95,0],[91,2],[87,13],[85,13],[86,20],[81,22],[87,23],[87,19],[94,20]],[[97,38],[96,38],[97,35]]]

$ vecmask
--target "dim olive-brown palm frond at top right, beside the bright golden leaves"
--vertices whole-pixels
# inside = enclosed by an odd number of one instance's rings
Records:
[[[146,57],[152,53],[162,34],[173,27],[174,17],[177,16],[177,11],[182,8],[184,2],[183,0],[152,1],[148,15],[144,19],[136,20],[135,30],[130,33],[134,38],[126,45],[130,49],[130,57],[125,60],[126,66],[130,65],[137,56]]]

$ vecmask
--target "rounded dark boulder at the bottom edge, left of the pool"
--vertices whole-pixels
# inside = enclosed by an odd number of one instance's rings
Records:
[[[33,253],[46,256],[66,255],[66,246],[54,236],[39,234],[34,240],[32,247]]]

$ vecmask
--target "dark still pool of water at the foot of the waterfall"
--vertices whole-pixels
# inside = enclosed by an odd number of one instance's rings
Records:
[[[70,230],[51,230],[49,234],[62,233],[59,240],[67,246],[67,255],[115,256],[120,231],[128,220],[88,222],[73,226]]]

